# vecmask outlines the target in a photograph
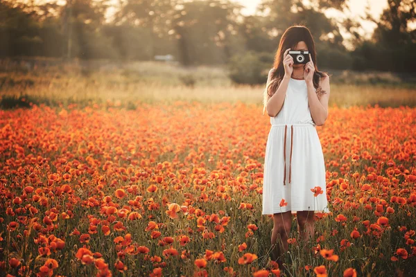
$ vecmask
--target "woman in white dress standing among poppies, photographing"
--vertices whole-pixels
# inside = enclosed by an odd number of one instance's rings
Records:
[[[294,64],[288,51],[309,51],[309,62]],[[329,76],[318,71],[311,32],[306,26],[291,26],[281,37],[263,100],[263,114],[266,110],[272,126],[266,144],[262,214],[273,217],[271,258],[280,267],[281,253],[288,251],[292,213],[303,240],[313,240],[315,211],[329,213],[324,155],[315,127],[328,117],[328,100]]]

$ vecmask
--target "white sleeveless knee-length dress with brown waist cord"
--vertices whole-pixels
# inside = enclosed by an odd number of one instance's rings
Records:
[[[289,80],[284,105],[277,116],[270,118],[270,123],[264,159],[262,215],[286,211],[329,213],[324,154],[311,117],[304,80]],[[315,197],[311,189],[316,186],[323,193]],[[287,206],[280,206],[281,199]]]

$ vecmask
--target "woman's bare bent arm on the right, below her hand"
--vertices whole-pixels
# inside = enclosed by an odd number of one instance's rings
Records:
[[[313,87],[313,82],[308,82],[306,84],[308,88],[308,102],[309,109],[311,111],[311,116],[313,121],[317,126],[324,125],[325,120],[328,118],[328,101],[329,101],[329,76],[327,74],[321,78],[321,88],[326,91],[322,94],[320,98],[316,94],[316,89]]]

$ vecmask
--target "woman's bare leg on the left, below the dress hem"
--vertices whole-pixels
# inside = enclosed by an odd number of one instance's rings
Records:
[[[291,233],[291,226],[291,211],[275,213],[273,215],[271,258],[279,264],[280,269],[283,269],[281,256],[284,252],[288,251],[289,248],[288,235]]]

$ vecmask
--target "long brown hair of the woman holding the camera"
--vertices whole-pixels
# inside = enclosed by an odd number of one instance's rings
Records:
[[[283,55],[284,51],[287,48],[291,48],[293,50],[298,42],[305,42],[306,46],[308,46],[308,51],[311,53],[312,62],[315,65],[315,73],[313,73],[313,87],[317,89],[317,93],[325,93],[320,88],[320,78],[324,76],[324,71],[318,71],[318,62],[316,61],[316,51],[315,51],[315,42],[313,41],[313,37],[311,35],[311,31],[304,25],[293,25],[287,28],[284,34],[281,36],[279,48],[277,49],[275,55],[275,62],[273,64],[273,68],[276,69],[275,72],[272,73],[270,76],[270,82],[266,89],[264,89],[264,96],[263,96],[263,115],[264,111],[266,110],[266,105],[270,97],[277,91],[279,88],[279,84],[281,80],[284,78],[284,65],[283,65]],[[329,74],[327,74],[329,75]]]

